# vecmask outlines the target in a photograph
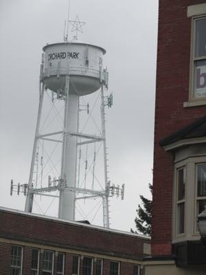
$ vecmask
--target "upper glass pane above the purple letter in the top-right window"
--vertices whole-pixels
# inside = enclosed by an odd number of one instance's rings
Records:
[[[195,23],[195,57],[206,56],[206,19]]]

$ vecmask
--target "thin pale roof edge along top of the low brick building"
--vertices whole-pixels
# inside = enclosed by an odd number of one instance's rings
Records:
[[[136,234],[136,233],[132,233],[132,232],[127,232],[127,231],[122,231],[122,230],[117,230],[117,229],[112,229],[112,228],[104,228],[102,226],[98,226],[98,225],[91,225],[91,224],[87,224],[87,223],[81,223],[78,221],[68,221],[66,219],[59,219],[56,217],[50,217],[50,216],[46,216],[43,214],[34,214],[34,213],[29,213],[29,212],[25,212],[22,210],[17,210],[17,209],[11,209],[11,208],[5,208],[0,206],[0,212],[11,212],[14,214],[21,214],[21,215],[25,215],[25,216],[30,216],[30,217],[37,217],[39,219],[45,219],[45,220],[52,220],[52,221],[57,221],[60,223],[68,223],[70,225],[76,225],[76,226],[80,226],[82,228],[91,228],[93,230],[100,230],[100,231],[106,231],[106,232],[113,232],[116,234],[122,234],[122,235],[128,235],[128,236],[135,236],[141,239],[147,239],[150,240],[150,236],[145,236],[143,234]]]

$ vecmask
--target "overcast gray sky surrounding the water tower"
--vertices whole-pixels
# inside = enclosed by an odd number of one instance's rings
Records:
[[[71,0],[70,18],[87,22],[81,41],[106,49],[113,108],[107,111],[109,171],[125,183],[111,201],[111,228],[135,228],[139,195],[149,197],[157,52],[157,0]],[[38,109],[42,47],[61,42],[68,0],[0,1],[0,206],[24,209],[10,197],[10,179],[27,182]]]

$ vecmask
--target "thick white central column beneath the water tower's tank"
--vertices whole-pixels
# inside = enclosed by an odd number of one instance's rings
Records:
[[[61,164],[62,189],[60,190],[58,217],[60,219],[73,220],[75,192],[65,189],[65,187],[76,187],[77,137],[71,133],[77,133],[78,131],[79,96],[77,94],[69,94],[69,76],[67,76],[66,80],[66,95]]]

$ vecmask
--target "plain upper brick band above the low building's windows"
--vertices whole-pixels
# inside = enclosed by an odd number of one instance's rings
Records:
[[[0,210],[0,237],[21,239],[39,243],[51,243],[62,247],[127,255],[142,259],[143,243],[149,239],[100,230],[87,225],[75,225],[52,219]]]

